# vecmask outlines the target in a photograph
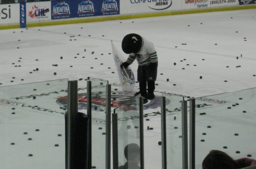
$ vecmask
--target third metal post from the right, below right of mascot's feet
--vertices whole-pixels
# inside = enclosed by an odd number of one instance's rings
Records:
[[[161,136],[162,136],[162,169],[167,169],[166,157],[166,102],[165,97],[161,98]]]

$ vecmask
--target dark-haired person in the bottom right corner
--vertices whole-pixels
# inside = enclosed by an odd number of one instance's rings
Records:
[[[204,158],[203,169],[239,169],[248,166],[256,166],[256,160],[251,158],[239,158],[234,160],[228,154],[219,150],[212,150]]]

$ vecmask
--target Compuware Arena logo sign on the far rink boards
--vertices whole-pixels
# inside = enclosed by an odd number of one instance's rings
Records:
[[[172,6],[172,0],[130,0],[131,4],[145,4],[148,8],[156,11],[166,10]]]

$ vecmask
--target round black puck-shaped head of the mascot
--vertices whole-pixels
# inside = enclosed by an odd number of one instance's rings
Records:
[[[140,35],[131,33],[124,37],[122,41],[122,49],[124,53],[138,53],[142,46],[142,38]]]

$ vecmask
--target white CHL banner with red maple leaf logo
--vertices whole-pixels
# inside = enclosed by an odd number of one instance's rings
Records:
[[[26,3],[27,23],[51,20],[50,2]]]

